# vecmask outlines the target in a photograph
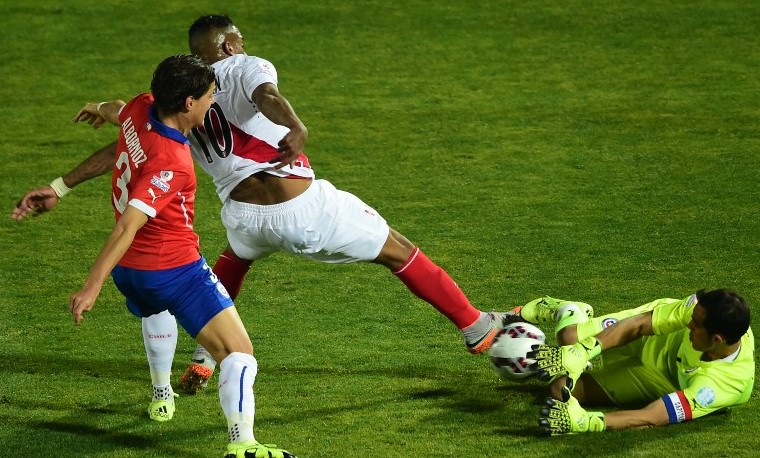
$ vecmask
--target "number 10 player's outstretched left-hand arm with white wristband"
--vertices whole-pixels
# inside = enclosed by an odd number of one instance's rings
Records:
[[[83,181],[98,177],[111,170],[116,154],[116,142],[94,152],[64,176],[57,178],[49,186],[32,189],[19,199],[13,208],[11,218],[21,221],[28,216],[38,216],[52,210],[71,188]],[[60,180],[60,182],[58,181]],[[61,186],[62,185],[62,186]]]

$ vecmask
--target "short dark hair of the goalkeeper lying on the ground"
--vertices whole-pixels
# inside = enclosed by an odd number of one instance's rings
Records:
[[[726,343],[739,341],[749,329],[749,306],[743,297],[727,289],[697,291],[697,304],[704,307],[705,329],[711,336],[722,334]]]

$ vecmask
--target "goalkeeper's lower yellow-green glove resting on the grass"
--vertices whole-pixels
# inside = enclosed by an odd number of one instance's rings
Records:
[[[552,436],[604,431],[606,424],[601,412],[587,412],[570,394],[572,383],[562,387],[562,401],[546,398],[541,408],[538,426]]]

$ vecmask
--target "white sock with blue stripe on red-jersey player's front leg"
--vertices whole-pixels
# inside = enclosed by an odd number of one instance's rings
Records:
[[[253,382],[258,363],[253,355],[230,353],[219,364],[219,403],[227,417],[230,442],[253,440],[253,417],[256,403]]]

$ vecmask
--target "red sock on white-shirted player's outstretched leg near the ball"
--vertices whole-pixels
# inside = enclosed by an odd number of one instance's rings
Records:
[[[415,248],[406,263],[393,274],[459,329],[466,328],[480,317],[480,310],[470,304],[449,274],[428,259],[419,248]]]

